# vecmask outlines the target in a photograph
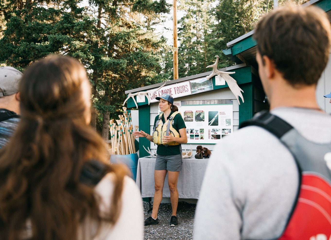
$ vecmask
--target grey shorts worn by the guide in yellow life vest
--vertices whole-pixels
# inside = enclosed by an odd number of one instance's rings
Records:
[[[155,170],[179,172],[182,170],[182,164],[182,154],[171,156],[157,155],[155,161]]]

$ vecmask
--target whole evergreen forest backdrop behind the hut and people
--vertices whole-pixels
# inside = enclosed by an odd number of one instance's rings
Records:
[[[177,6],[182,78],[210,71],[215,55],[218,68],[234,65],[221,50],[253,30],[273,1],[177,0]],[[78,59],[92,84],[91,125],[108,140],[125,90],[173,78],[172,36],[160,31],[170,13],[171,0],[1,0],[0,66],[24,71],[48,54]]]

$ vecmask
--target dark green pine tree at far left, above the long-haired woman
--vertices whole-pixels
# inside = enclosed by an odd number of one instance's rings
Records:
[[[50,53],[68,54],[90,64],[86,39],[92,20],[78,1],[5,1],[0,39],[0,62],[23,70]]]

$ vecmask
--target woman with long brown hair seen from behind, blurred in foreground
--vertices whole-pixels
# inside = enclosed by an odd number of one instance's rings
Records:
[[[83,66],[41,59],[20,94],[21,121],[0,151],[0,239],[142,239],[139,190],[88,125]]]

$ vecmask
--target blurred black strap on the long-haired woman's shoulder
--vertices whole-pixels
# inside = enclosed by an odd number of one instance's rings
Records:
[[[90,160],[84,163],[79,182],[89,186],[95,186],[105,175],[106,165],[97,160]]]

